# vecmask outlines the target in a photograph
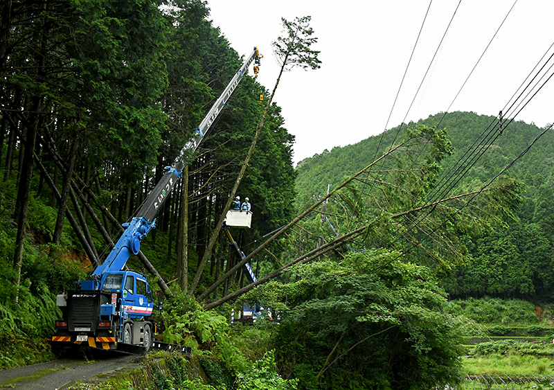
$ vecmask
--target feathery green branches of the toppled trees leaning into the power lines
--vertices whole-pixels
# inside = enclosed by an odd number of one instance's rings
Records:
[[[358,247],[396,249],[411,263],[432,267],[441,276],[450,274],[469,258],[473,243],[468,237],[514,218],[512,209],[521,202],[522,190],[519,182],[503,179],[477,198],[481,184],[476,183],[435,197],[440,163],[452,152],[445,129],[408,127],[383,157],[339,184],[333,191],[336,198],[322,206],[326,218],[305,220],[294,240],[314,247],[316,239],[329,242],[364,227]],[[303,237],[306,233],[310,240]]]

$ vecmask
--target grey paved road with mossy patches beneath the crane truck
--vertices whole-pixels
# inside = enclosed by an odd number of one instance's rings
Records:
[[[100,382],[106,376],[95,378],[96,375],[113,374],[139,368],[143,357],[136,355],[121,355],[114,352],[96,354],[88,359],[82,356],[66,357],[52,362],[33,364],[0,371],[0,389],[54,390],[66,389],[75,382]]]

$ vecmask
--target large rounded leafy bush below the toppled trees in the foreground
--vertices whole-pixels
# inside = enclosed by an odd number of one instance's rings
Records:
[[[285,378],[303,388],[352,389],[456,382],[461,317],[447,314],[429,269],[398,253],[350,254],[298,267],[301,285],[274,345]]]

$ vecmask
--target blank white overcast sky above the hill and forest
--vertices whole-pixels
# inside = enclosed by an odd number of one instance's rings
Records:
[[[258,81],[269,91],[279,70],[271,42],[281,33],[281,17],[312,17],[310,26],[319,39],[312,48],[321,51],[321,69],[285,73],[274,98],[283,109],[285,127],[296,136],[296,165],[325,149],[357,143],[385,127],[438,112],[496,116],[503,109],[506,113],[512,95],[554,42],[554,1],[517,1],[449,109],[514,4],[514,0],[462,0],[415,96],[458,2],[431,4],[390,121],[429,1],[208,0],[208,7],[213,26],[220,27],[240,55],[249,55],[253,46],[260,48],[265,57]],[[553,52],[551,48],[547,57]],[[539,127],[553,123],[553,103],[554,78],[516,119]]]

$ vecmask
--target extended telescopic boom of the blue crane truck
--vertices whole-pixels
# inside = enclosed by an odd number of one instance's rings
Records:
[[[196,129],[196,135],[184,145],[172,165],[166,167],[166,172],[146,198],[143,206],[136,214],[137,216],[128,224],[123,225],[127,227],[127,229],[125,229],[125,232],[123,232],[123,235],[119,238],[117,244],[114,246],[114,249],[111,250],[104,263],[94,270],[92,274],[93,279],[101,278],[102,274],[107,271],[119,271],[125,266],[131,254],[139,253],[141,241],[151,229],[154,229],[156,222],[155,217],[163,203],[166,202],[171,190],[179,181],[181,172],[188,162],[188,159],[190,159],[193,152],[198,148],[198,145],[202,142],[208,130],[210,130],[217,116],[222,112],[229,98],[231,98],[233,91],[235,91],[240,80],[242,80],[242,77],[253,61],[256,62],[254,73],[256,73],[257,76],[261,57],[262,55],[260,55],[258,48],[254,47],[252,53],[244,60],[242,67],[236,71],[229,84],[225,87],[220,97],[217,98],[210,111],[208,111],[208,114],[206,114],[199,127]]]

